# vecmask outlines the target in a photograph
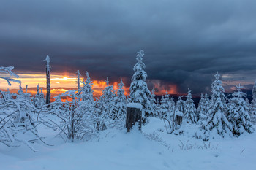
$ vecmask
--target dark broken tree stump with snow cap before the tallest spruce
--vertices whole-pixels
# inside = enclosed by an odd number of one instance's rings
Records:
[[[139,130],[141,129],[142,106],[141,104],[129,103],[127,104],[127,119],[126,128],[129,132],[136,122],[139,123]]]

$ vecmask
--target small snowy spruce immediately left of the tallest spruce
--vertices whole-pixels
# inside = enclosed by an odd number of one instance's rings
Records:
[[[113,120],[125,120],[127,113],[127,98],[124,95],[124,83],[121,80],[118,84],[117,96],[114,99]]]

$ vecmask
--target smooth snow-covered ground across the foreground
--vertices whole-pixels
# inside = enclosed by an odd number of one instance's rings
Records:
[[[54,146],[34,144],[38,152],[33,152],[0,144],[0,169],[255,169],[255,133],[203,142],[192,137],[196,126],[184,128],[189,129],[184,135],[167,134],[163,120],[150,118],[142,132],[108,129],[89,142],[75,143],[64,143],[53,131],[39,128]]]

